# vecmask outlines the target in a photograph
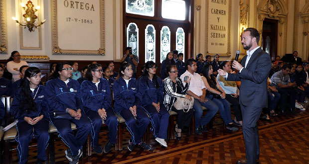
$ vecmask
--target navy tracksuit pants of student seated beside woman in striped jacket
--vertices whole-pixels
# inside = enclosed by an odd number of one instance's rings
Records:
[[[150,121],[154,128],[154,138],[167,139],[167,125],[169,113],[165,106],[160,104],[160,111],[157,112],[153,105],[146,105],[145,111],[150,116]]]

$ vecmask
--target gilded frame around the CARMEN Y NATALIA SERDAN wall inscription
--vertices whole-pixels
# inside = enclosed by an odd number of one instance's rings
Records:
[[[232,17],[232,0],[228,0],[229,1],[229,18],[228,18],[228,41],[227,41],[227,53],[226,54],[220,54],[220,57],[230,57],[231,56],[231,17]],[[212,57],[214,57],[215,54],[210,54],[208,52],[208,13],[209,11],[209,1],[206,0],[206,16],[205,16],[205,24],[206,25],[206,29],[205,29],[205,52],[207,55],[211,55]]]

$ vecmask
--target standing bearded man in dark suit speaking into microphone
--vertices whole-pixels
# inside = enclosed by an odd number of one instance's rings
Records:
[[[267,102],[267,78],[272,67],[269,54],[258,45],[260,34],[255,28],[247,28],[241,43],[247,55],[241,61],[233,61],[237,74],[228,74],[218,70],[219,75],[227,81],[241,81],[239,104],[243,116],[243,134],[246,146],[246,159],[238,160],[237,164],[257,164],[259,148],[259,130],[257,121]]]

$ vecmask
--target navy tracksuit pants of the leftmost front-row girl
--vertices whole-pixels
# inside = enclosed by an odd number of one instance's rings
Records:
[[[37,139],[37,158],[46,161],[46,148],[48,146],[48,130],[49,122],[47,119],[43,118],[34,125],[28,124],[26,121],[18,120],[16,129],[17,134],[15,140],[17,142],[17,156],[19,159],[19,164],[26,164],[28,161],[28,146],[29,142],[33,138],[33,128],[34,137]]]

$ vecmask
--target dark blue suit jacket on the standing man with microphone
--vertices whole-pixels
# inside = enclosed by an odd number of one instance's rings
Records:
[[[267,107],[267,78],[272,68],[268,53],[258,48],[251,56],[247,68],[245,63],[248,55],[241,61],[244,67],[241,73],[228,74],[227,81],[241,81],[239,89],[239,104],[253,107]]]

